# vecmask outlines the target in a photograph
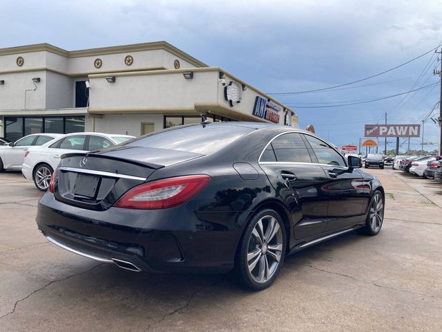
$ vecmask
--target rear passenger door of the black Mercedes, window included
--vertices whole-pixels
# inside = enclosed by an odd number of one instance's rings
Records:
[[[320,234],[327,225],[327,197],[321,189],[327,177],[311,154],[300,133],[284,133],[271,141],[259,163],[291,211],[296,239]]]

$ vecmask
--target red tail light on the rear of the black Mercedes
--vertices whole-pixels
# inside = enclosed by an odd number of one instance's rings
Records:
[[[210,181],[208,175],[178,176],[137,185],[115,203],[117,208],[164,209],[189,201]]]

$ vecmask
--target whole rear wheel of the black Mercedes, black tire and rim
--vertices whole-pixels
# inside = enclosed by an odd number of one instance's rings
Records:
[[[281,216],[269,209],[258,212],[242,234],[236,255],[236,277],[253,291],[269,287],[284,264],[286,246]]]

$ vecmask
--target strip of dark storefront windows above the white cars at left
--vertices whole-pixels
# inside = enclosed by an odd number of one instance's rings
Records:
[[[5,117],[5,138],[15,142],[31,133],[84,132],[84,116]]]

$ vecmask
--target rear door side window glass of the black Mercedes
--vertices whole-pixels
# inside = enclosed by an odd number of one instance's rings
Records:
[[[271,160],[271,150],[274,158]],[[285,133],[275,138],[261,156],[260,161],[278,161],[280,163],[311,163],[311,158],[299,133]]]

